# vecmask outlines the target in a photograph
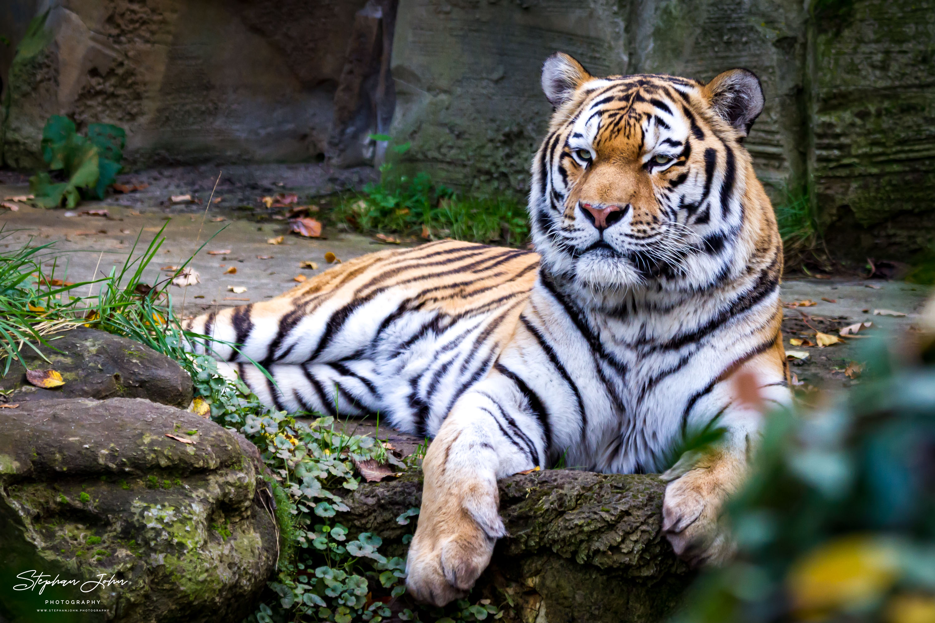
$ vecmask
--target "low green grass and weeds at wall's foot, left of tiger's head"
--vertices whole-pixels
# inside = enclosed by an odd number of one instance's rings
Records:
[[[374,135],[377,140],[390,140]],[[409,144],[390,149],[401,155]],[[381,165],[381,181],[341,198],[334,218],[365,233],[400,234],[413,240],[454,238],[469,242],[521,246],[529,234],[525,204],[506,195],[468,196],[435,183],[421,172],[397,173]]]

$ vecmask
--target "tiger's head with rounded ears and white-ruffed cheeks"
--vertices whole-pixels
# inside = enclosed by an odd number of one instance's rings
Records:
[[[742,145],[763,109],[753,73],[595,78],[556,53],[542,89],[554,115],[529,210],[543,270],[605,296],[697,291],[779,244]]]

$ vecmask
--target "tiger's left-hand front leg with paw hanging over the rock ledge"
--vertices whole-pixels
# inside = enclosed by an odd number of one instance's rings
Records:
[[[501,395],[491,393],[496,385]],[[440,606],[467,595],[496,539],[507,534],[496,480],[544,460],[538,423],[521,397],[503,389],[488,379],[463,396],[425,455],[422,509],[406,566],[406,586],[422,602]]]

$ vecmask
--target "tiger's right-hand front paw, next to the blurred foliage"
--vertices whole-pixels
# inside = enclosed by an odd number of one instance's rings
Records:
[[[719,522],[724,489],[707,470],[673,480],[662,505],[662,530],[676,556],[692,566],[719,565],[734,553],[734,543]]]

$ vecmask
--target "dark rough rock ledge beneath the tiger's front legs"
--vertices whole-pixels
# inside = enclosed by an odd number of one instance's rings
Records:
[[[505,621],[649,623],[662,620],[694,577],[661,534],[665,484],[654,475],[549,470],[499,483],[501,539],[475,595],[517,604]],[[422,503],[421,474],[366,483],[344,497],[338,521],[379,534],[384,555],[405,551],[415,522],[396,517]],[[385,550],[385,551],[383,551]]]

